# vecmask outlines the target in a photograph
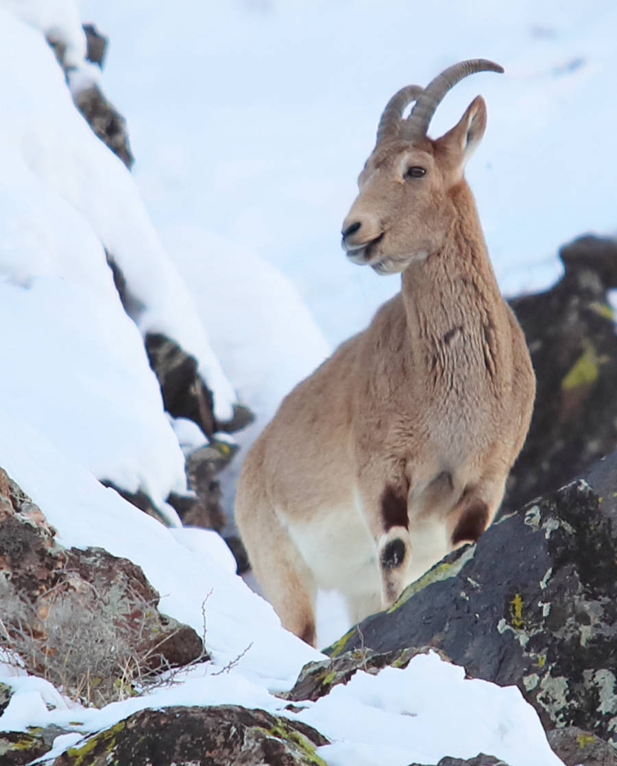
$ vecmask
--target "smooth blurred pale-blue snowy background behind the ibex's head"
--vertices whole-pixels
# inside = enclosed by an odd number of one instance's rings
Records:
[[[110,34],[105,83],[130,125],[135,176],[166,238],[199,224],[281,267],[331,343],[361,329],[398,277],[346,263],[339,231],[399,87],[469,57],[505,75],[460,83],[445,132],[477,94],[484,142],[468,179],[506,293],[550,283],[556,248],[615,229],[617,7],[610,0],[84,0]],[[196,244],[195,258],[215,258]]]

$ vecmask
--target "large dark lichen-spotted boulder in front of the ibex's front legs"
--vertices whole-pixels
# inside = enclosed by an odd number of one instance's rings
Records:
[[[327,653],[436,647],[515,684],[546,729],[617,745],[617,452],[492,525]]]

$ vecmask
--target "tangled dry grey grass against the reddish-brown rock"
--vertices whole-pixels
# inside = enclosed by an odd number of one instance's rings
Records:
[[[171,634],[156,607],[124,589],[101,595],[89,587],[79,594],[55,588],[33,604],[0,574],[0,644],[28,673],[85,705],[173,683],[157,651]]]

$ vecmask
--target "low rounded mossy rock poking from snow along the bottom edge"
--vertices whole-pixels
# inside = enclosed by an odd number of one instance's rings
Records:
[[[141,710],[68,748],[54,766],[326,766],[315,748],[328,745],[315,729],[237,705]]]

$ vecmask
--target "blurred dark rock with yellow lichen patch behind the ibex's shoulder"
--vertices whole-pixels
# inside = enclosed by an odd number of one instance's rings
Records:
[[[617,336],[607,294],[617,287],[617,243],[580,237],[560,258],[559,283],[510,300],[527,338],[537,396],[503,513],[563,486],[617,447]]]

